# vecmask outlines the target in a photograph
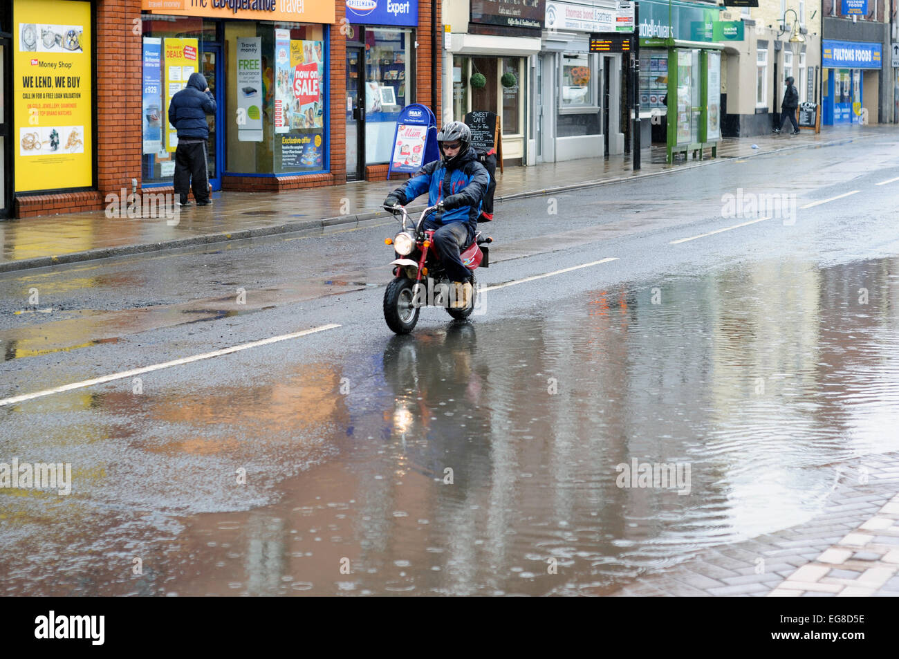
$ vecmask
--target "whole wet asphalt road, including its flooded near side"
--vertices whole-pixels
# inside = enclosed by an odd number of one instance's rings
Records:
[[[604,593],[810,519],[899,449],[897,143],[502,204],[511,285],[410,337],[383,219],[0,277],[0,399],[339,325],[0,406],[0,461],[72,465],[0,489],[4,593]]]

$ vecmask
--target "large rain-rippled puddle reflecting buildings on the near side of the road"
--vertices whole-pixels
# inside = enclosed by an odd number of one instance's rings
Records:
[[[75,466],[68,497],[0,490],[4,591],[602,593],[794,526],[899,450],[897,265],[743,264],[0,410],[0,459]]]

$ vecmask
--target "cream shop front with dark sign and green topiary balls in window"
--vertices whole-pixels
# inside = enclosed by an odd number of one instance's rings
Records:
[[[470,111],[494,112],[501,122],[503,164],[524,165],[530,58],[540,51],[544,0],[449,2],[444,12],[452,30],[451,66],[444,79],[445,93],[451,90],[452,119],[463,120]]]

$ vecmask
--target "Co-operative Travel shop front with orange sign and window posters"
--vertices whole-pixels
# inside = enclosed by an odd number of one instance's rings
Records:
[[[209,117],[213,189],[265,189],[279,177],[328,173],[334,4],[172,4],[143,0],[144,187],[172,184],[178,138],[168,106],[198,71],[217,101]]]

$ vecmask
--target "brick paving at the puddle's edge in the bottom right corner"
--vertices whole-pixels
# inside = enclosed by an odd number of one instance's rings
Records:
[[[899,597],[899,453],[862,465],[837,467],[841,481],[813,520],[706,549],[612,595]]]

